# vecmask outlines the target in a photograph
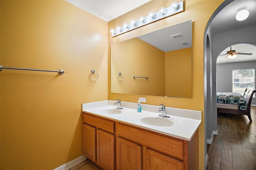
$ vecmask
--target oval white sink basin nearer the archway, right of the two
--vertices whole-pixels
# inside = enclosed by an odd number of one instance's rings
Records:
[[[174,122],[165,117],[143,117],[140,121],[158,127],[171,127],[174,125]]]

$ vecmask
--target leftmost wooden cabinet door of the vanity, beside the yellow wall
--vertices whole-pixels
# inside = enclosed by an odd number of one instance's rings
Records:
[[[83,123],[83,154],[96,162],[96,128]]]

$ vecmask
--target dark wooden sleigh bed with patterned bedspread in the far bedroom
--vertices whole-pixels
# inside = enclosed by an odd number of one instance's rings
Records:
[[[217,93],[217,113],[229,113],[236,115],[247,115],[249,120],[251,117],[251,102],[253,94],[256,90],[246,88],[244,95],[240,93]]]

